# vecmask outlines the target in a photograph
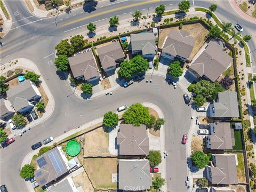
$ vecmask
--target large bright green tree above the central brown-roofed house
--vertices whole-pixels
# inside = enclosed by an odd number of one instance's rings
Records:
[[[124,122],[126,124],[133,124],[140,126],[141,124],[147,125],[150,121],[150,115],[147,107],[143,107],[141,103],[131,105],[123,114]]]

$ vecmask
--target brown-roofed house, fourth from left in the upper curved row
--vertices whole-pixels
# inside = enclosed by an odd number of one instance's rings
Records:
[[[165,37],[161,56],[170,60],[186,62],[196,39],[185,30],[171,30]]]

